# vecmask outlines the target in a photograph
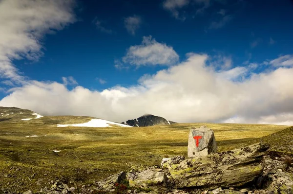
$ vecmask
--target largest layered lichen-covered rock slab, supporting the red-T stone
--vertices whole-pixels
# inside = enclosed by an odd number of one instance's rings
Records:
[[[170,159],[165,166],[177,188],[240,187],[263,170],[260,160],[269,147],[253,144],[240,149],[193,159]]]

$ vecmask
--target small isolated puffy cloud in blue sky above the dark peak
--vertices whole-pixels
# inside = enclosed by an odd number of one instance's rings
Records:
[[[151,36],[144,36],[142,44],[127,49],[122,60],[136,66],[173,65],[179,60],[179,55],[165,43],[159,43]]]

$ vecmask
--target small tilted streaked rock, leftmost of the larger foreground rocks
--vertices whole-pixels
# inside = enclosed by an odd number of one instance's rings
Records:
[[[123,179],[126,179],[126,173],[120,172],[115,175],[111,175],[99,182],[97,182],[97,190],[103,190],[105,192],[110,192],[114,189],[115,191],[115,183],[121,183]]]

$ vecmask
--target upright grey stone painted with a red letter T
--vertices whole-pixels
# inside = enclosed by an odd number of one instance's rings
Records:
[[[188,157],[195,158],[217,153],[213,131],[207,126],[191,127],[188,138]]]

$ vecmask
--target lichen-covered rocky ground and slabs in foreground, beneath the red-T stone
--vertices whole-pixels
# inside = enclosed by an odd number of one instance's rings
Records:
[[[178,156],[162,166],[120,172],[88,185],[69,188],[57,180],[39,193],[293,194],[293,157],[268,148],[253,144],[206,157]]]

